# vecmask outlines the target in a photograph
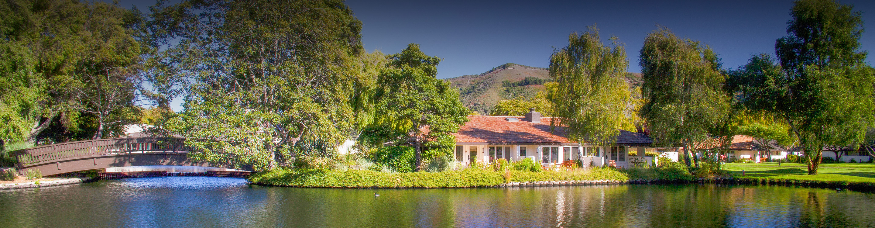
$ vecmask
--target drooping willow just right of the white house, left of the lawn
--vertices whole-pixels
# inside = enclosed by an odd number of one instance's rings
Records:
[[[690,147],[709,139],[730,107],[717,53],[661,27],[644,40],[640,64],[647,101],[641,117],[650,136],[659,144],[682,145],[690,165]]]

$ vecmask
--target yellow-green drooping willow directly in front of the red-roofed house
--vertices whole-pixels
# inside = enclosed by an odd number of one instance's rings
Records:
[[[556,79],[551,95],[556,120],[569,128],[569,139],[598,145],[616,141],[632,100],[624,80],[626,49],[616,37],[605,45],[595,25],[583,34],[571,33],[568,46],[550,56],[549,75]]]

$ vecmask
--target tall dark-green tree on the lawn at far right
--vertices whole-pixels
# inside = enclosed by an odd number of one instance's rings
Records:
[[[861,13],[830,0],[796,1],[788,36],[775,41],[777,61],[755,55],[739,91],[751,110],[787,122],[817,174],[823,146],[858,148],[875,124],[875,70],[859,51]]]

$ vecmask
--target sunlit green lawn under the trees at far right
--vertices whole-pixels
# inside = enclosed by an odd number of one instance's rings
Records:
[[[725,163],[723,168],[733,175],[809,180],[809,181],[847,181],[875,182],[875,164],[871,163],[823,163],[817,175],[808,175],[805,164],[762,162],[758,164]]]

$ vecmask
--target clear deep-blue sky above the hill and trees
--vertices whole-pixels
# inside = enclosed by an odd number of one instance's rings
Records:
[[[154,0],[120,1],[141,10]],[[875,27],[875,1],[844,0]],[[793,1],[410,1],[347,0],[363,25],[368,52],[398,53],[409,43],[443,58],[438,78],[475,75],[506,62],[546,68],[554,48],[570,32],[597,24],[603,39],[627,44],[629,71],[641,72],[638,51],[656,25],[710,45],[725,68],[737,68],[755,53],[774,53],[787,34]],[[864,32],[862,50],[875,50],[875,31]],[[868,58],[872,64],[872,57]],[[176,104],[176,103],[174,103]],[[174,105],[174,106],[178,106]],[[179,107],[174,107],[178,110]]]

